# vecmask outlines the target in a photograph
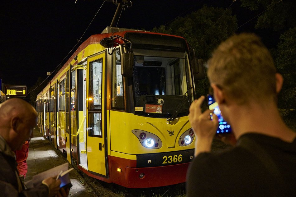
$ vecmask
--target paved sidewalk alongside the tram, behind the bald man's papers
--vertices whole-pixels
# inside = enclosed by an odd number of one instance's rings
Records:
[[[63,163],[68,163],[66,159],[58,152],[48,140],[46,140],[39,132],[34,129],[34,138],[31,139],[29,146],[29,155],[27,158],[28,172],[25,178],[25,182],[32,179],[37,173],[43,172],[50,168],[59,166]],[[69,164],[69,168],[70,168]],[[85,188],[80,180],[81,176],[75,170],[70,173],[72,187],[70,189],[69,196],[97,196]]]

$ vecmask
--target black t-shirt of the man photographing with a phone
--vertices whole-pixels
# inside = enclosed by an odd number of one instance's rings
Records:
[[[254,140],[271,160],[263,164],[260,154],[240,145],[220,153],[200,153],[187,172],[187,196],[296,196],[296,139],[287,143],[249,133],[238,141],[246,140]],[[265,167],[272,162],[282,178]]]

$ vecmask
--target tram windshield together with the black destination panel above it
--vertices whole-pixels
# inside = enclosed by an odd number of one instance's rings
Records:
[[[192,102],[188,47],[181,37],[127,33],[134,53],[135,114],[181,117]]]

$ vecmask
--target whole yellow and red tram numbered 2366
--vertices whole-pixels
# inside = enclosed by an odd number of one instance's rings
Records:
[[[127,188],[185,182],[189,106],[204,78],[179,36],[107,27],[36,98],[38,128],[88,176]]]

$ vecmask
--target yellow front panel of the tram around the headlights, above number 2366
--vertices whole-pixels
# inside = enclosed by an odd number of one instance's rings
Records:
[[[110,111],[110,149],[111,155],[162,153],[193,149],[194,142],[187,146],[179,146],[178,140],[186,130],[190,129],[188,116],[181,117],[171,125],[166,118],[151,118],[137,116],[132,113]],[[131,131],[139,129],[157,135],[162,141],[159,149],[149,149],[141,145],[140,141]],[[168,131],[174,131],[169,135]],[[115,154],[115,152],[118,152]],[[129,157],[129,156],[127,156]]]

